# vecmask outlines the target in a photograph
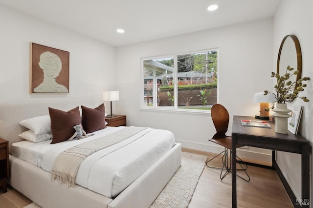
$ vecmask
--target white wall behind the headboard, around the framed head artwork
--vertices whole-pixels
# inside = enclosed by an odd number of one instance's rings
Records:
[[[0,100],[90,98],[114,84],[115,48],[0,6]],[[30,42],[69,51],[69,93],[29,93]]]

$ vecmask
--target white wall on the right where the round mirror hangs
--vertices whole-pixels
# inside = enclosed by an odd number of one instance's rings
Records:
[[[309,103],[302,102],[301,99],[296,99],[293,103],[304,106],[303,115],[299,127],[299,134],[313,142],[313,1],[312,0],[283,0],[276,12],[274,18],[273,29],[273,57],[277,59],[278,50],[281,41],[286,35],[296,35],[302,51],[302,77],[310,77],[311,81],[306,82],[307,87],[301,93],[301,96],[307,96]],[[274,63],[276,64],[276,63]],[[291,104],[288,104],[291,108]],[[311,152],[311,157],[312,157]],[[281,168],[285,178],[287,179],[291,189],[298,199],[301,199],[301,156],[298,154],[277,152],[277,164]],[[312,162],[311,162],[312,164]],[[312,190],[312,166],[311,166],[311,190]],[[312,191],[311,191],[312,194]],[[312,208],[312,195],[311,205]]]

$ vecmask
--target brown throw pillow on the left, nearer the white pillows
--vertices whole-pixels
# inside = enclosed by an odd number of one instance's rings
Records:
[[[50,144],[69,139],[75,133],[73,126],[81,123],[79,107],[67,112],[49,107],[49,114],[52,130],[52,142]]]

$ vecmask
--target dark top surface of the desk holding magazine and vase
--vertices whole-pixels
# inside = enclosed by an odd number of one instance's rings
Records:
[[[270,138],[272,140],[276,140],[276,142],[296,142],[296,143],[309,143],[308,140],[303,138],[300,135],[294,135],[291,132],[288,134],[280,134],[275,132],[275,123],[268,122],[271,128],[261,128],[261,127],[252,127],[252,126],[243,126],[241,125],[240,120],[258,120],[254,117],[248,116],[234,116],[233,118],[233,127],[232,134],[235,135],[246,135],[258,138]],[[262,121],[262,120],[260,120]],[[278,140],[278,141],[277,141]]]

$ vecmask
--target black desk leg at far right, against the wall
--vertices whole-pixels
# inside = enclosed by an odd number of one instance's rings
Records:
[[[310,145],[302,145],[301,154],[301,203],[303,208],[309,208],[310,204]]]

